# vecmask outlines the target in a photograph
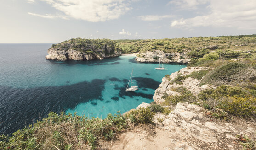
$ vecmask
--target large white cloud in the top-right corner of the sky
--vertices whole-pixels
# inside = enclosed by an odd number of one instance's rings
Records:
[[[256,0],[211,0],[208,15],[174,20],[171,27],[234,27],[256,29]]]

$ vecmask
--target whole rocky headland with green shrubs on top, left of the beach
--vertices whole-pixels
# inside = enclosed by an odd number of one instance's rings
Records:
[[[48,49],[46,59],[50,60],[92,60],[121,55],[116,43],[109,39],[73,38],[62,43],[53,44]]]

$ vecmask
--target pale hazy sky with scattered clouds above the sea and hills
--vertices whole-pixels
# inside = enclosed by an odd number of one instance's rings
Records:
[[[256,0],[0,0],[0,43],[256,34]]]

